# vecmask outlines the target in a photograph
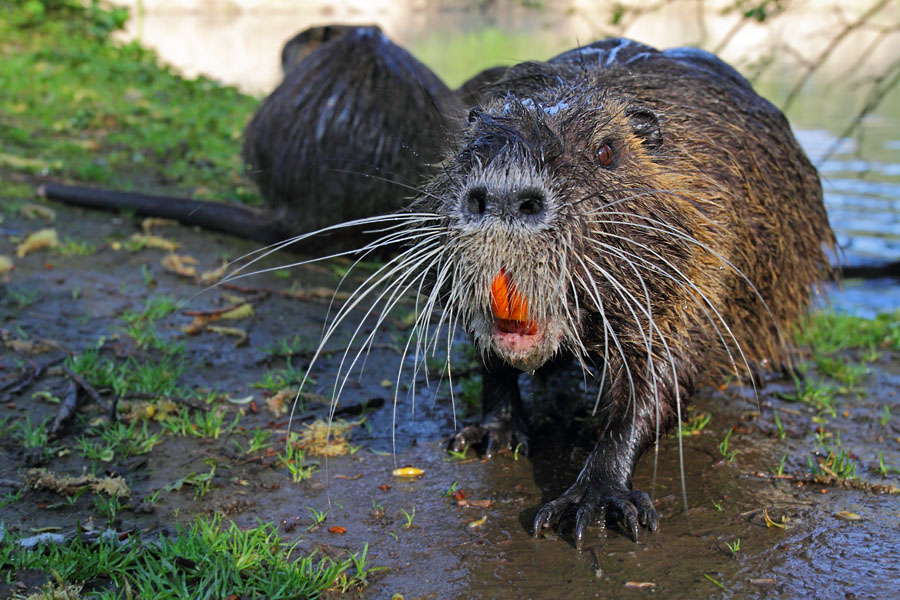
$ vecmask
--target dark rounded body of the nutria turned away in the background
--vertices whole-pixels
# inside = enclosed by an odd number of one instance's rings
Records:
[[[284,80],[244,132],[266,204],[296,233],[406,204],[463,114],[453,93],[374,26],[301,32],[282,60]],[[358,244],[358,231],[325,243]]]

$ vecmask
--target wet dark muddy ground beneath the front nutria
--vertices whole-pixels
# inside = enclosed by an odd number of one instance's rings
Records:
[[[579,552],[569,530],[540,539],[532,538],[530,531],[537,508],[574,479],[590,449],[586,435],[590,406],[579,404],[582,384],[577,373],[545,382],[523,376],[523,393],[539,431],[531,456],[501,456],[487,462],[453,459],[444,451],[454,426],[446,380],[438,387],[432,377],[428,388],[420,375],[415,412],[409,394],[401,393],[392,427],[393,392],[384,383],[396,376],[400,361],[396,347],[408,331],[399,321],[388,324],[380,330],[362,376],[350,380],[341,398],[342,405],[375,399],[377,406],[377,399],[384,400],[380,408],[367,411],[364,425],[352,431],[350,440],[358,449],[327,462],[316,459],[319,469],[295,484],[274,457],[265,452],[248,455],[235,441],[246,448],[249,432],[269,429],[277,447],[284,436],[286,417],[273,414],[262,390],[251,384],[266,371],[284,367],[285,358],[271,352],[280,340],[297,336],[306,349],[317,343],[329,300],[317,290],[334,286],[336,269],[329,264],[300,267],[287,278],[266,273],[241,280],[246,288],[242,293],[217,288],[195,297],[203,286],[166,270],[161,264],[166,251],[114,249],[115,241],[140,230],[138,219],[53,208],[56,220],[51,224],[5,213],[0,254],[14,256],[19,239],[45,226],[55,227],[63,239],[90,241],[97,249],[86,256],[36,251],[16,258],[15,270],[2,276],[0,329],[7,340],[41,339],[55,345],[38,354],[23,352],[19,346],[0,350],[0,386],[35,365],[51,365],[26,388],[14,394],[0,392],[0,419],[10,419],[0,438],[0,493],[16,491],[24,469],[35,463],[61,474],[93,469],[99,475],[122,475],[132,490],[112,523],[118,530],[172,531],[176,523],[190,523],[198,514],[221,511],[240,525],[274,522],[286,539],[298,540],[306,550],[338,556],[345,550],[359,552],[368,543],[371,563],[387,567],[362,593],[371,598],[392,594],[406,599],[896,597],[900,495],[879,493],[881,488],[866,485],[897,485],[900,479],[896,472],[888,477],[877,472],[879,452],[885,464],[900,465],[896,354],[883,353],[872,365],[865,392],[842,396],[837,417],[824,424],[817,422],[813,409],[780,399],[780,392],[793,390],[790,381],[769,380],[758,394],[735,382],[704,390],[695,399],[692,414],[709,412],[710,423],[697,435],[682,438],[682,453],[676,436],[663,439],[658,454],[648,452],[637,469],[635,486],[651,492],[660,511],[659,531],[642,532],[635,543],[618,528],[603,534],[595,529],[586,549]],[[255,248],[180,226],[157,227],[153,233],[177,241],[177,253],[194,257],[201,269],[212,269],[223,257]],[[282,255],[279,261],[292,258]],[[279,294],[287,289],[306,291],[301,295],[307,299]],[[236,293],[251,300],[254,308],[252,317],[227,324],[247,332],[245,344],[235,346],[238,338],[231,335],[182,332],[192,320],[184,310],[227,307],[235,303],[227,294]],[[35,460],[9,433],[9,424],[26,414],[34,423],[55,414],[58,407],[35,393],[64,394],[69,380],[59,369],[61,357],[98,346],[101,336],[105,337],[101,352],[117,360],[139,353],[123,331],[121,316],[141,310],[147,298],[159,295],[188,300],[181,312],[158,327],[163,339],[186,346],[181,356],[188,367],[179,377],[181,389],[219,392],[216,403],[201,403],[192,410],[225,407],[226,422],[244,412],[238,429],[214,440],[166,433],[164,442],[149,454],[92,464],[77,451],[75,440],[106,411],[88,401],[56,442],[72,451]],[[342,331],[329,349],[346,347],[349,331]],[[301,351],[292,358],[293,364],[306,368],[310,357]],[[334,352],[315,366],[311,392],[329,392],[340,358],[341,353]],[[458,379],[465,378],[465,369],[464,365]],[[410,377],[407,369],[402,381],[409,383]],[[464,394],[456,391],[459,400]],[[251,404],[228,402],[226,395],[232,400],[253,396],[256,412]],[[111,394],[104,400],[110,398]],[[882,423],[885,406],[894,416]],[[783,438],[773,408],[779,409]],[[298,413],[308,423],[325,416],[327,407],[313,398]],[[458,414],[462,420],[471,418],[462,409]],[[731,428],[728,450],[738,453],[728,462],[719,446]],[[808,457],[819,448],[817,429],[839,435],[842,448],[857,461],[859,483],[821,485],[772,476],[770,470],[786,456],[783,473],[808,479]],[[204,459],[209,457],[216,459],[217,469],[202,498],[195,498],[192,486],[166,491],[190,473],[208,472]],[[392,477],[392,470],[403,465],[424,469],[425,474],[414,480]],[[464,490],[467,506],[446,495],[454,482]],[[155,503],[142,502],[157,492]],[[328,510],[325,522],[312,530],[307,529],[312,524],[309,508]],[[767,526],[763,509],[783,527]],[[414,514],[409,527],[403,511]],[[845,520],[841,511],[858,515],[859,520]],[[103,517],[90,494],[70,505],[52,492],[28,490],[0,510],[0,522],[19,535],[47,528],[71,532],[76,524],[92,520],[99,524]],[[335,526],[345,533],[329,531]],[[739,549],[732,552],[726,544],[738,539]]]

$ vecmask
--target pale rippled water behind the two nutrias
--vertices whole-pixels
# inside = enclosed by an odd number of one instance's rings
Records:
[[[140,0],[133,0],[140,1]],[[127,3],[127,2],[126,2]],[[892,25],[900,5],[887,3],[874,24]],[[820,169],[825,204],[848,264],[900,260],[900,86],[895,86],[842,137],[866,104],[878,77],[898,73],[900,32],[880,37],[860,28],[848,35],[791,98],[804,66],[868,4],[820,2],[767,23],[725,13],[727,2],[674,2],[645,14],[614,3],[353,1],[291,3],[232,0],[186,12],[174,0],[144,0],[127,36],[155,48],[186,75],[205,74],[260,97],[280,80],[281,44],[310,25],[377,23],[451,87],[484,68],[546,59],[605,35],[626,35],[658,47],[702,45],[751,78],[757,90],[786,107],[801,144]],[[699,8],[698,8],[699,7]],[[891,71],[891,68],[894,70]],[[789,104],[789,106],[787,106]],[[863,314],[900,307],[896,282],[849,283],[831,301]]]

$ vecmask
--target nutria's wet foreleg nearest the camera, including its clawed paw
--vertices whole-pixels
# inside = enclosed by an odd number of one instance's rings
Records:
[[[639,403],[640,404],[640,403]],[[544,504],[534,518],[533,534],[575,513],[575,547],[584,545],[587,526],[619,523],[637,541],[639,526],[656,531],[659,516],[645,492],[631,489],[634,466],[653,437],[653,405],[619,411],[584,463],[575,483]]]

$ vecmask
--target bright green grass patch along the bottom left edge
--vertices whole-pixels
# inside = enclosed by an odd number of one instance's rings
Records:
[[[0,573],[11,580],[17,571],[38,569],[59,583],[90,582],[91,598],[277,600],[359,590],[374,570],[367,546],[346,558],[304,555],[270,523],[239,528],[218,516],[178,526],[174,537],[129,542],[75,538],[22,550],[7,536],[0,542]]]

